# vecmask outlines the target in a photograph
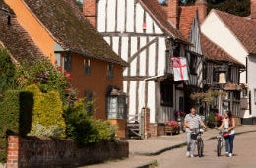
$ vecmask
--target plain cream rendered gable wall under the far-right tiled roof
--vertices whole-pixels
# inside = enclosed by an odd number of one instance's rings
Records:
[[[247,51],[214,11],[202,23],[201,32],[239,62],[246,64]],[[246,83],[246,72],[240,74],[240,83]]]

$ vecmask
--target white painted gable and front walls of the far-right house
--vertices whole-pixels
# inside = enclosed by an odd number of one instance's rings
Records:
[[[211,12],[206,20],[201,25],[201,31],[212,41],[222,47],[232,57],[246,65],[246,57],[248,56],[247,50],[235,35],[224,25],[219,16],[215,12]],[[251,112],[249,110],[241,110],[240,117],[250,118],[256,116],[255,93],[256,89],[256,57],[248,58],[248,88],[251,91]],[[246,72],[241,73],[240,83],[246,83]],[[241,100],[241,105],[246,106],[248,99]],[[244,105],[243,105],[244,104]]]

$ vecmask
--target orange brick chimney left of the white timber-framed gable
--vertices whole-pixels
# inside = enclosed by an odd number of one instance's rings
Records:
[[[83,13],[95,28],[97,18],[97,1],[98,0],[83,0]]]

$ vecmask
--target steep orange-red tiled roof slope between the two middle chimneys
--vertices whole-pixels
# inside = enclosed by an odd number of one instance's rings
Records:
[[[179,8],[179,30],[187,39],[189,39],[196,10],[196,6],[180,6]]]

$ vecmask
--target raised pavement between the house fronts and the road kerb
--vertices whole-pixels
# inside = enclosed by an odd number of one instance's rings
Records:
[[[236,135],[256,132],[256,125],[236,126]],[[203,133],[203,140],[215,139],[218,131],[216,129],[207,129]],[[145,140],[128,140],[129,158],[120,160],[108,160],[101,164],[84,166],[88,168],[146,168],[154,164],[154,156],[160,153],[186,145],[186,133],[180,133],[172,136],[159,136],[157,138],[148,138]],[[185,155],[185,149],[184,149]]]

